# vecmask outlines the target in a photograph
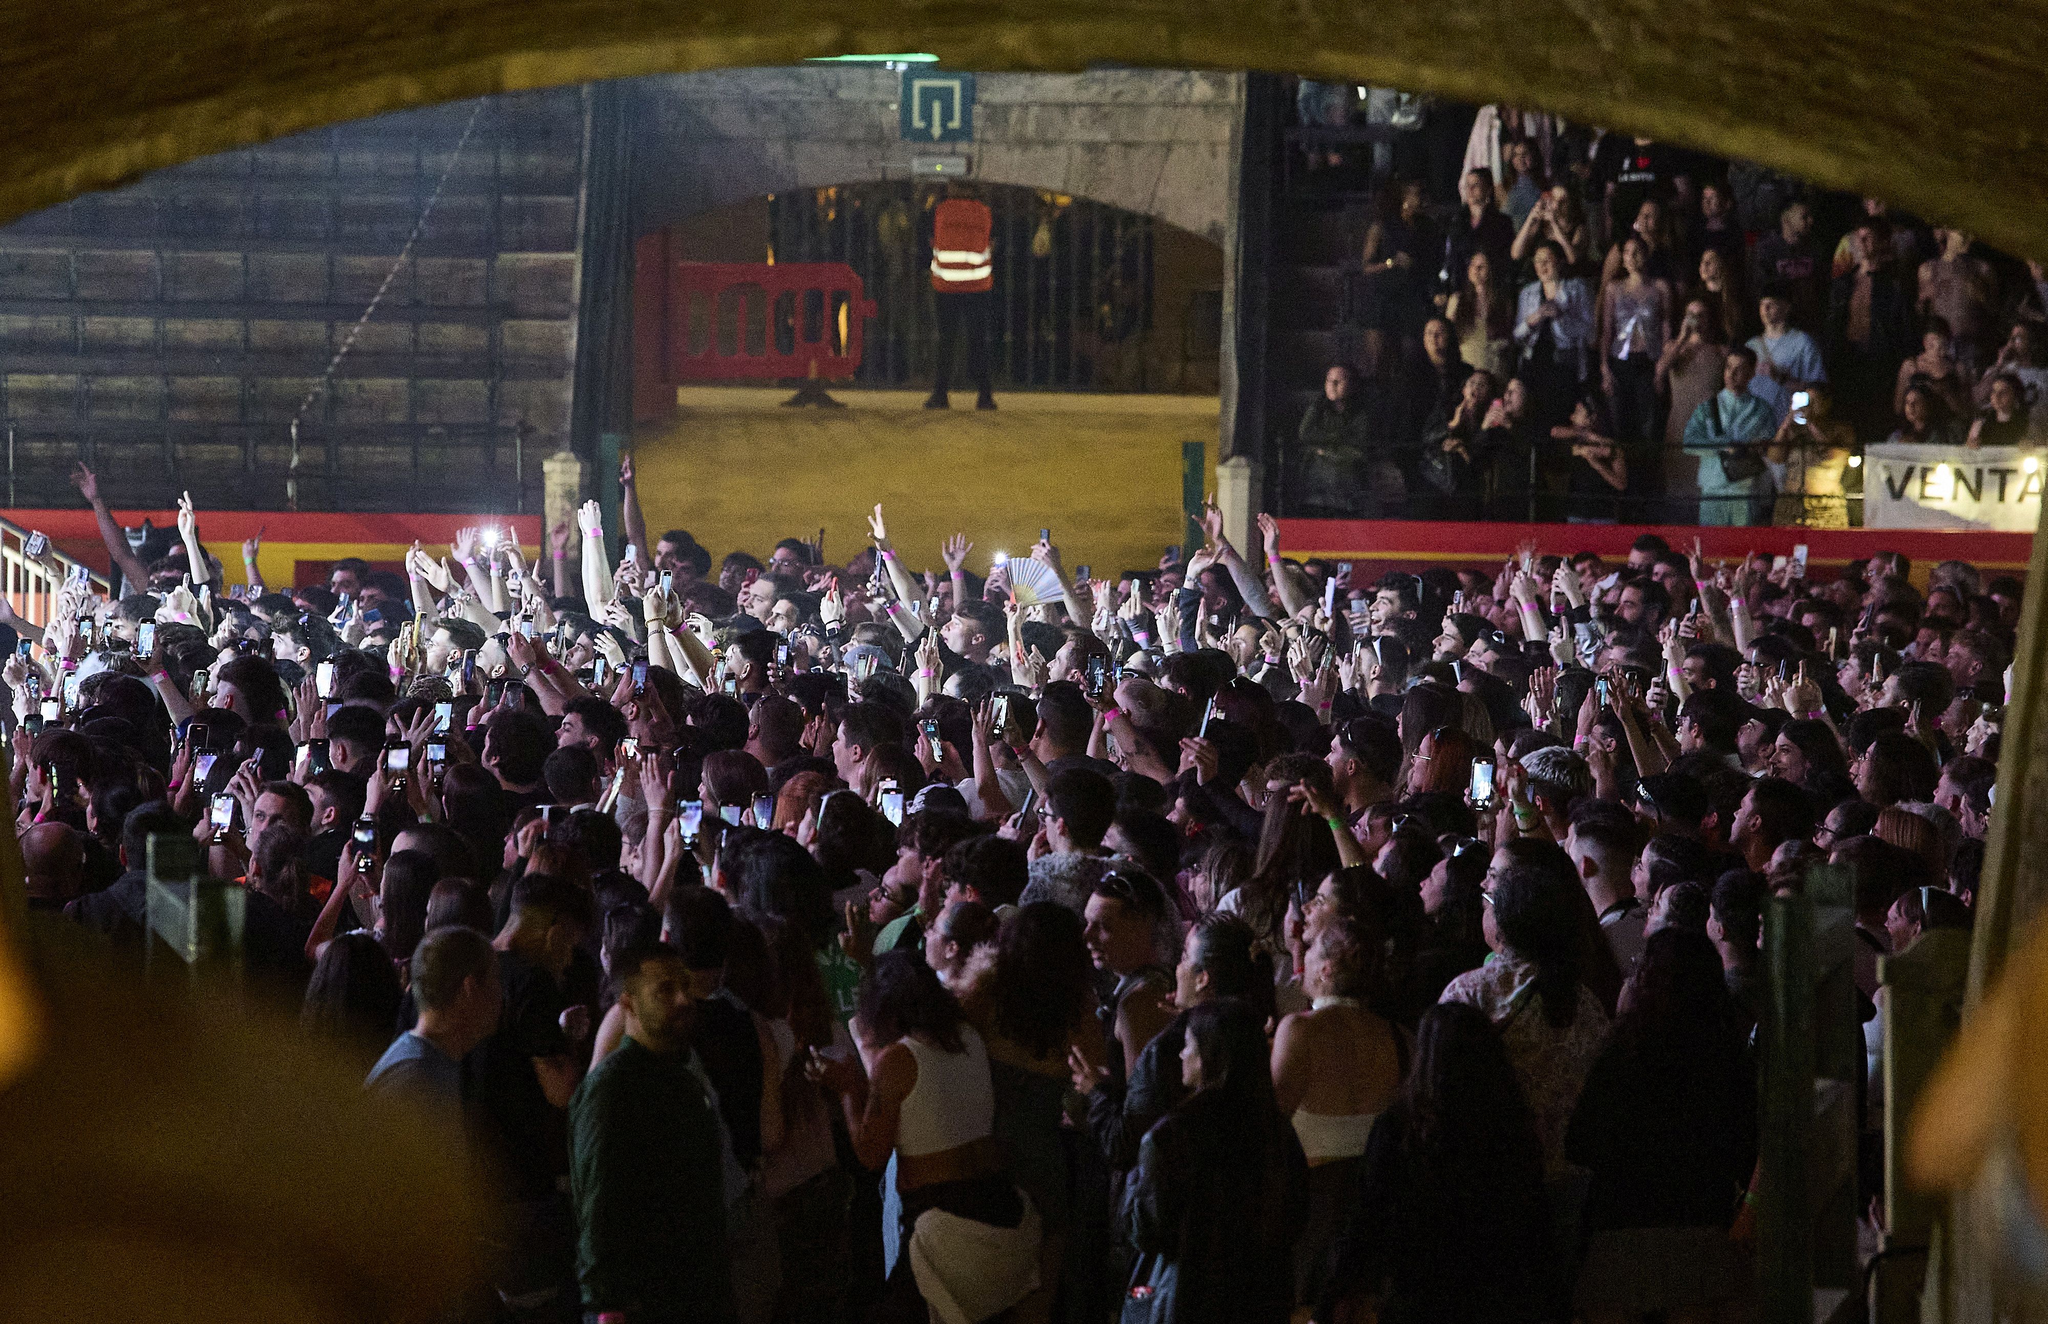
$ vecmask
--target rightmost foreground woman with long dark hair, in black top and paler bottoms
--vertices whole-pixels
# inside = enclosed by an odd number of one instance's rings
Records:
[[[1591,1170],[1579,1310],[1702,1312],[1741,1289],[1729,1224],[1757,1162],[1757,1078],[1706,935],[1645,943],[1565,1154]]]

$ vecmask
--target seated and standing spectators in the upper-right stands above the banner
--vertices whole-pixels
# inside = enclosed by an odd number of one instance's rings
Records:
[[[1458,123],[1454,203],[1432,160],[1372,180],[1360,355],[1300,422],[1290,512],[1845,529],[1866,445],[2038,441],[2040,262],[1642,137]]]

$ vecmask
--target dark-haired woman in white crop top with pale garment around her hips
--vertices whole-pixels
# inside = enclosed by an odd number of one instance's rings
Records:
[[[897,1158],[905,1250],[868,1318],[930,1318],[913,1260],[942,1275],[946,1289],[973,1293],[971,1318],[1010,1310],[1036,1281],[1038,1217],[1004,1162],[981,1033],[930,965],[911,951],[891,951],[874,959],[860,988],[854,1039],[854,1058],[813,1049],[809,1074],[840,1101],[864,1168],[879,1172],[891,1154]],[[934,1211],[956,1222],[924,1219]],[[973,1246],[961,1244],[958,1219],[979,1224]],[[973,1283],[956,1277],[969,1269]]]

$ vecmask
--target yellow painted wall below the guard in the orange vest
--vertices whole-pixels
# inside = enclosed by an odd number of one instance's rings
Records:
[[[999,396],[946,412],[918,391],[852,391],[844,410],[788,410],[784,389],[684,387],[678,412],[635,432],[647,529],[688,529],[713,555],[766,560],[782,537],[825,529],[825,560],[866,543],[883,502],[889,539],[915,570],[944,570],[967,533],[969,570],[1024,553],[1051,529],[1067,568],[1151,568],[1182,541],[1182,443],[1204,443],[1214,484],[1214,396]],[[969,408],[961,408],[961,406]]]

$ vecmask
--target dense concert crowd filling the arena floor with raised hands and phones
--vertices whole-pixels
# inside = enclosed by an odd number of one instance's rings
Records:
[[[2021,592],[1655,537],[1368,582],[1210,508],[1018,605],[879,506],[715,562],[631,461],[610,539],[268,588],[78,484],[121,588],[6,621],[29,904],[139,965],[154,836],[240,883],[250,996],[475,1164],[477,1320],[1739,1299],[1765,908],[1855,867],[1880,1062]]]

